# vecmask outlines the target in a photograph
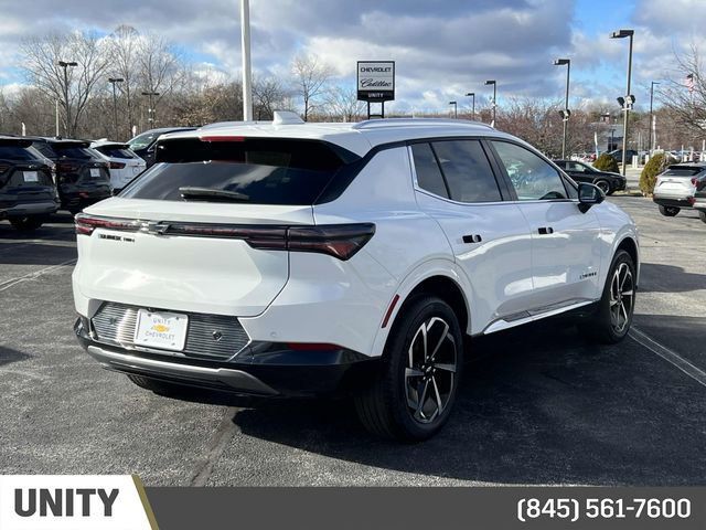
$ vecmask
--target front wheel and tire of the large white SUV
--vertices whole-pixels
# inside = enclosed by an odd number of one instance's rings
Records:
[[[580,324],[587,339],[603,344],[614,344],[624,339],[635,308],[635,278],[632,257],[625,251],[618,251],[596,311]]]

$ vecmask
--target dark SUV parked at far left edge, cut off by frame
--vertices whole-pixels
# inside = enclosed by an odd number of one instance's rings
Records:
[[[58,209],[52,165],[21,137],[0,136],[0,220],[36,230]]]

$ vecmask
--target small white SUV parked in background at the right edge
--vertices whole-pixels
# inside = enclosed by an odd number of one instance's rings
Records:
[[[683,208],[692,209],[695,205],[697,190],[702,203],[705,189],[706,162],[673,163],[657,176],[652,200],[660,206],[662,215],[673,218]]]

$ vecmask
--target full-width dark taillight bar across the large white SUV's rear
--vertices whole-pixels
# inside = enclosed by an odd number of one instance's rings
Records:
[[[76,233],[90,235],[96,229],[146,232],[159,236],[221,237],[243,240],[253,248],[313,252],[350,259],[375,234],[373,223],[320,226],[280,226],[132,221],[76,215]]]

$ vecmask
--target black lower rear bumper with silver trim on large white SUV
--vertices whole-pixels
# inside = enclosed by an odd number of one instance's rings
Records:
[[[301,398],[355,390],[375,375],[379,359],[351,350],[293,351],[253,343],[231,361],[145,353],[95,341],[78,318],[76,338],[104,368],[188,386],[263,398]]]

